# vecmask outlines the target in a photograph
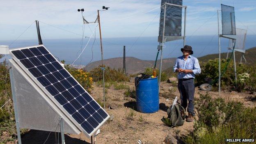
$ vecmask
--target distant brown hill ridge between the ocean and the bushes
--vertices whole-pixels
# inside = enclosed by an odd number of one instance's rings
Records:
[[[227,53],[222,53],[221,58],[226,58]],[[231,53],[229,53],[229,56]],[[245,64],[250,64],[250,65],[256,65],[256,47],[250,48],[246,50],[245,52],[245,58],[247,60],[247,63]],[[207,62],[209,59],[215,59],[219,58],[219,54],[211,54],[211,55],[206,55],[203,57],[199,57],[199,62]],[[240,62],[241,58],[241,53],[240,52],[235,52],[235,59],[236,62]],[[233,59],[233,56],[232,56]],[[174,65],[176,58],[168,58],[168,59],[163,59],[162,61],[162,69],[164,70],[172,70],[172,66]],[[244,63],[244,60],[242,61]],[[159,63],[160,60],[157,61],[157,68],[159,68]],[[104,59],[104,64],[105,66],[110,66],[112,69],[123,69],[123,57],[116,57],[116,58],[111,58],[111,59]],[[153,60],[141,60],[137,59],[135,57],[126,57],[126,73],[128,74],[134,74],[134,73],[142,73],[147,67],[153,67],[155,64],[155,61]],[[83,69],[90,71],[91,69],[101,65],[101,61],[96,61],[96,62],[91,62],[88,64],[86,67]]]

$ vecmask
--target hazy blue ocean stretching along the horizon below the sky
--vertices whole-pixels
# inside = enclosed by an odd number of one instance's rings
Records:
[[[186,44],[192,46],[194,57],[218,53],[218,39],[215,36],[192,36],[187,37]],[[84,39],[82,49],[88,42]],[[103,38],[103,59],[123,57],[123,46],[126,46],[126,57],[136,57],[142,60],[155,60],[157,54],[157,37],[132,37],[132,38]],[[13,41],[0,41],[0,45],[10,45]],[[17,40],[10,48],[37,45],[37,39]],[[81,52],[81,39],[43,39],[43,44],[59,60],[65,60],[71,64]],[[221,52],[227,52],[229,40],[221,38]],[[182,55],[181,47],[183,40],[165,43],[163,58],[178,57]],[[256,35],[247,35],[245,49],[256,46]],[[5,57],[8,58],[8,57]],[[160,55],[158,56],[160,59]],[[101,60],[100,41],[90,39],[87,47],[75,64],[87,65],[89,62]]]

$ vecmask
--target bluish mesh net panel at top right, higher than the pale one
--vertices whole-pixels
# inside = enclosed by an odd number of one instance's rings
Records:
[[[222,34],[235,35],[234,7],[221,5],[222,8]]]

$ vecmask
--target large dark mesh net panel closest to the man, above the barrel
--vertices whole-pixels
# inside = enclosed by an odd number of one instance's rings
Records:
[[[165,2],[182,5],[182,0],[162,0],[161,5]],[[161,7],[159,36],[162,37],[165,6]],[[165,15],[165,36],[181,36],[182,7],[166,5]]]

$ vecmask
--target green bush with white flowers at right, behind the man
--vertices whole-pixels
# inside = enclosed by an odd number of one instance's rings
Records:
[[[237,64],[237,82],[235,82],[234,63],[233,60],[229,62],[226,59],[221,60],[221,87],[224,89],[233,89],[237,91],[255,91],[256,90],[256,70],[254,66],[245,64]],[[211,78],[213,86],[218,86],[219,78],[219,59],[210,59],[208,62],[200,64],[201,74],[196,75],[195,83],[201,85],[205,83],[204,78]],[[225,72],[224,72],[225,71]],[[248,75],[247,75],[248,74]]]

